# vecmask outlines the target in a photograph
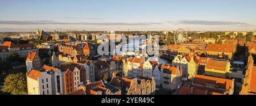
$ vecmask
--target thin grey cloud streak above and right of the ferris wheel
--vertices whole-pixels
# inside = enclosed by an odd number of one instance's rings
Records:
[[[224,25],[236,25],[236,26],[249,26],[248,23],[243,22],[229,22],[229,21],[208,21],[208,20],[179,20],[176,22],[166,21],[173,24],[193,24],[193,25],[205,25],[205,26],[224,26]]]

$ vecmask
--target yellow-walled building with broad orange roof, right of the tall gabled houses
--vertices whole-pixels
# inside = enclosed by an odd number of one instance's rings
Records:
[[[226,60],[208,60],[205,67],[205,75],[229,78],[229,73],[231,73],[230,66],[230,62]]]

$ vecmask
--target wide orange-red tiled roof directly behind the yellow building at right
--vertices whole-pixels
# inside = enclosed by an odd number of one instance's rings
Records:
[[[207,51],[212,52],[234,52],[234,45],[230,44],[208,44]]]

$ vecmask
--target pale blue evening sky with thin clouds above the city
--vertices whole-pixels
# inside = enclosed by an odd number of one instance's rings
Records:
[[[255,0],[0,0],[0,31],[254,31]]]

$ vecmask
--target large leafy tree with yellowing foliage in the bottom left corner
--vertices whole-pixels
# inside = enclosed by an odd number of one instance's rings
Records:
[[[3,92],[12,95],[27,94],[27,80],[26,75],[23,73],[7,75],[3,84]]]

